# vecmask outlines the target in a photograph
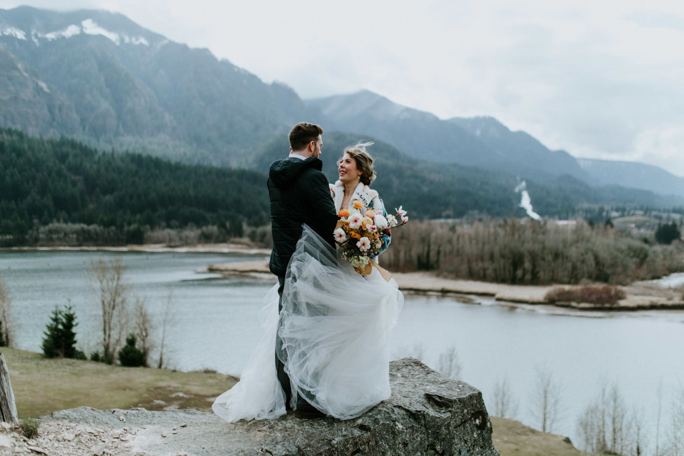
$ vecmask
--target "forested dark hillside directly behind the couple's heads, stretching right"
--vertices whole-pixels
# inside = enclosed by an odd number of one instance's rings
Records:
[[[372,186],[388,208],[404,205],[419,218],[456,218],[474,216],[525,216],[518,207],[521,194],[515,192],[516,176],[459,164],[437,164],[409,157],[402,151],[371,136],[341,131],[323,135],[323,171],[330,182],[337,180],[337,159],[349,145],[371,140],[369,148],[376,157],[378,179]],[[254,155],[252,167],[262,173],[274,160],[287,157],[287,136],[274,138]],[[543,181],[527,181],[535,210],[544,217],[594,216],[601,219],[605,208],[672,207],[682,205],[677,197],[661,197],[645,190],[618,186],[592,187],[569,175]]]

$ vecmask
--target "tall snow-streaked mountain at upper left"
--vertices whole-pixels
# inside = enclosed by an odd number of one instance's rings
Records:
[[[54,113],[0,106],[3,125],[46,136],[236,165],[308,113],[287,86],[264,84],[207,49],[172,42],[121,14],[0,10],[0,47],[62,100],[65,116],[75,112],[77,125],[63,128]],[[0,66],[0,80],[8,71]],[[14,86],[5,90],[17,96]]]

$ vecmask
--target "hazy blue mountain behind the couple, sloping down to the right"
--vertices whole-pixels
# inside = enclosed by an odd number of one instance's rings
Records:
[[[548,179],[564,173],[589,180],[575,159],[554,153],[523,131],[512,132],[490,117],[440,120],[393,103],[369,90],[306,100],[338,129],[373,135],[412,157],[505,170]]]

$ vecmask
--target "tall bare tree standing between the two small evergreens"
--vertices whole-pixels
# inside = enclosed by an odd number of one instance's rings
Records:
[[[102,309],[102,348],[105,362],[114,362],[116,349],[127,333],[130,286],[124,281],[121,255],[90,262],[88,281]]]

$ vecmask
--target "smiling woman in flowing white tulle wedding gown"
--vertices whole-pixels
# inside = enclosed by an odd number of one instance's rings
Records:
[[[370,144],[347,147],[339,160],[339,181],[330,185],[337,210],[363,200],[376,213],[384,213],[378,192],[369,188],[376,177],[366,151]],[[379,239],[386,249],[389,232]],[[285,277],[282,311],[278,314],[277,284],[264,302],[263,337],[240,381],[213,404],[218,416],[234,422],[286,413],[274,364],[276,333],[282,340],[278,358],[296,392],[290,407],[298,395],[321,415],[350,419],[390,396],[389,331],[404,303],[394,279],[385,279],[376,268],[369,275],[358,274],[304,225]]]

